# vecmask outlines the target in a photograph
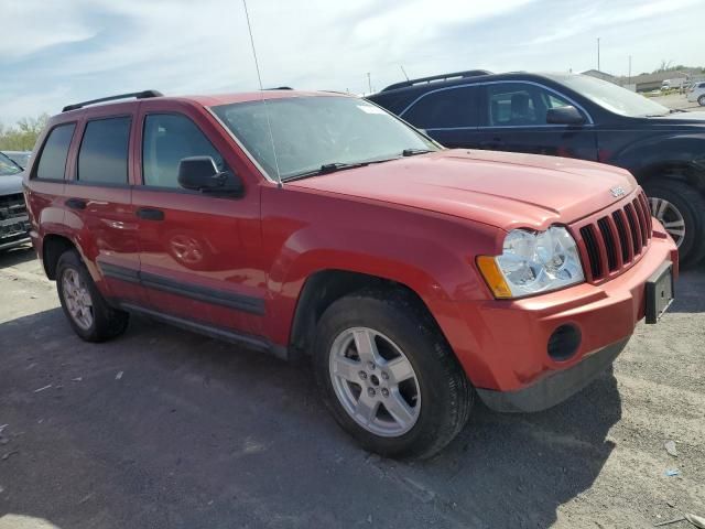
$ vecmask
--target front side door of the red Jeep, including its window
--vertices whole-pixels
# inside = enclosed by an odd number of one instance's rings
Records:
[[[235,197],[181,187],[177,171],[184,158],[212,156],[230,174],[245,169],[221,131],[196,110],[166,111],[164,105],[140,105],[141,160],[135,170],[141,185],[132,198],[140,222],[140,279],[150,306],[164,315],[261,335],[265,279],[258,261],[259,188],[246,185]]]

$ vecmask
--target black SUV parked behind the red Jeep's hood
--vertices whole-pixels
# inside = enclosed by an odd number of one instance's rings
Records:
[[[705,256],[705,114],[670,111],[584,75],[462,72],[369,99],[451,148],[581,158],[629,170],[684,262]]]

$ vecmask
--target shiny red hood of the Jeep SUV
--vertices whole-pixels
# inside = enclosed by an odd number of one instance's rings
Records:
[[[427,209],[503,229],[543,229],[609,206],[620,199],[618,187],[629,194],[637,182],[625,170],[582,160],[446,150],[285,185]]]

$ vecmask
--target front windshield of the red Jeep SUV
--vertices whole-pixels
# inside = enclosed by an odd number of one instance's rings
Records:
[[[282,180],[326,164],[375,162],[400,158],[409,150],[438,150],[387,111],[355,97],[288,97],[264,104],[221,105],[213,110],[268,174],[275,175],[279,165]]]

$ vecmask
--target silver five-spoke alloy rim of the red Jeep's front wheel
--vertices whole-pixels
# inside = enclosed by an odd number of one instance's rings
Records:
[[[329,375],[345,411],[368,432],[395,438],[419,420],[421,389],[414,368],[382,333],[369,327],[343,331],[330,347]]]

